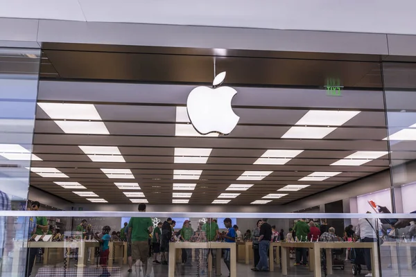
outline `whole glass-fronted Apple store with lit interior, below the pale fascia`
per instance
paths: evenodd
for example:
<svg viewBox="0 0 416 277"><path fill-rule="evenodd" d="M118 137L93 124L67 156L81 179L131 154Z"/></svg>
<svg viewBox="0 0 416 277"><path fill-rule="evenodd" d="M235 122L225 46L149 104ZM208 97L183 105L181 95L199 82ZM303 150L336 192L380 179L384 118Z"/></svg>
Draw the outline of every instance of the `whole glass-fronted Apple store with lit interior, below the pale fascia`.
<svg viewBox="0 0 416 277"><path fill-rule="evenodd" d="M413 62L0 48L0 276L416 276Z"/></svg>

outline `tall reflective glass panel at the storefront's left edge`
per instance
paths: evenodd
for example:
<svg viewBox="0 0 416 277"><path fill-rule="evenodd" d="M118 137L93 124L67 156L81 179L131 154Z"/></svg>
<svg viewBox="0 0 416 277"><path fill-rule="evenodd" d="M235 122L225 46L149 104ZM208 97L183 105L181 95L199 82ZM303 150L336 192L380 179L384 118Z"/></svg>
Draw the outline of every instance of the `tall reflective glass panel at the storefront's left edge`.
<svg viewBox="0 0 416 277"><path fill-rule="evenodd" d="M39 66L39 49L0 48L1 210L26 209ZM0 276L24 276L27 220L0 217Z"/></svg>

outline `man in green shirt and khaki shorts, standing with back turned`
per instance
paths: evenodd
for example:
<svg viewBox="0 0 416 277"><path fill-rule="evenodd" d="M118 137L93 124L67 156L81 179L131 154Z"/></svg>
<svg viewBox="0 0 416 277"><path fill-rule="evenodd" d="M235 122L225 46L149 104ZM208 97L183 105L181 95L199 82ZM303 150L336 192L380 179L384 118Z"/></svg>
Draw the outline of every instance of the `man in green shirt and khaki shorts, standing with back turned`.
<svg viewBox="0 0 416 277"><path fill-rule="evenodd" d="M139 213L146 212L146 204L139 204ZM143 263L143 272L147 274L147 260L149 253L148 238L149 233L153 231L153 222L150 217L132 217L127 225L128 228L128 242L132 243L132 258L133 261L141 260ZM136 265L139 266L139 265Z"/></svg>

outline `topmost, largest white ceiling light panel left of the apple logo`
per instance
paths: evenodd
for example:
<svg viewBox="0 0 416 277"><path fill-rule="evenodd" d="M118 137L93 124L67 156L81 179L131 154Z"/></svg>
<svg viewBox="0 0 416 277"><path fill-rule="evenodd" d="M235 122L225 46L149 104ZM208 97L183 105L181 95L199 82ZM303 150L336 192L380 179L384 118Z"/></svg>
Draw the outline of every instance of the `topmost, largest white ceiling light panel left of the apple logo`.
<svg viewBox="0 0 416 277"><path fill-rule="evenodd" d="M38 102L37 105L52 119L102 120L92 104Z"/></svg>

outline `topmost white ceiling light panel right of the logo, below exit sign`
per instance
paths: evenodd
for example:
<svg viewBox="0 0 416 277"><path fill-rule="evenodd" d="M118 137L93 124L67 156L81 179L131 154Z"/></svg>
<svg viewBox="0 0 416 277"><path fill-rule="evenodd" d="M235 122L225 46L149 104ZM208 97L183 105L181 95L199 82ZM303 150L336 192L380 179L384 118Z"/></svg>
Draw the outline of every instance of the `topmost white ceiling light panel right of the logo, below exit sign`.
<svg viewBox="0 0 416 277"><path fill-rule="evenodd" d="M360 111L308 111L295 125L341 126Z"/></svg>

